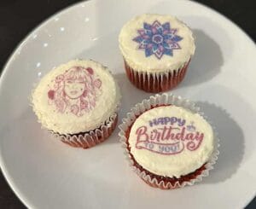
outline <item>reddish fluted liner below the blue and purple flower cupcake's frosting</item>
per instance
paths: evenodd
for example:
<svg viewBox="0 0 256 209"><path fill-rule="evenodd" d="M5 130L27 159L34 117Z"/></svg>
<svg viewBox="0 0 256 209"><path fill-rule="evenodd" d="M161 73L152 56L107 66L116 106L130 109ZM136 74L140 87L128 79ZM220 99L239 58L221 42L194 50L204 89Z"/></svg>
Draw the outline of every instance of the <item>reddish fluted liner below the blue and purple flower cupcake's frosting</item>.
<svg viewBox="0 0 256 209"><path fill-rule="evenodd" d="M157 73L157 71L155 73L147 73L136 71L136 69L130 67L125 61L125 71L131 83L138 89L159 93L161 91L172 90L172 88L176 87L183 80L189 67L189 62L190 60L183 67L177 70L166 71L166 73Z"/></svg>

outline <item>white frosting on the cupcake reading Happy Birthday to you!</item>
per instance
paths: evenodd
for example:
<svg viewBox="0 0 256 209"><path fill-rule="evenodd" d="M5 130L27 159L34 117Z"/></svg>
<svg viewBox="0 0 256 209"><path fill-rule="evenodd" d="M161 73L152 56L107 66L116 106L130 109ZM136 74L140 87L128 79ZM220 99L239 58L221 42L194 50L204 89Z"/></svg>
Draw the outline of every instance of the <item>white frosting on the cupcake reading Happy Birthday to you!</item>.
<svg viewBox="0 0 256 209"><path fill-rule="evenodd" d="M180 122L176 122L172 125L172 128L186 128L185 134L187 133L203 133L201 143L199 140L161 140L153 141L154 147L149 148L149 145L146 146L145 142L141 142L146 139L145 135L141 135L140 138L139 132L137 131L140 127L146 126L148 136L151 131L157 129L161 131L160 128L163 128L165 125L149 125L149 121L153 119L166 118L166 117L176 117L181 119ZM170 119L169 118L169 119ZM185 122L183 121L185 120ZM194 131L187 129L187 125L195 127ZM166 127L170 127L170 123L166 124ZM179 124L179 125L178 125ZM190 126L191 127L191 126ZM141 129L143 130L143 129ZM177 130L172 130L172 133L177 133ZM142 132L141 132L142 133ZM185 135L184 135L185 137ZM176 106L166 106L166 107L154 107L153 109L148 110L147 112L140 115L135 123L131 127L131 133L129 136L129 144L131 148L131 154L134 156L134 159L137 160L139 165L142 165L144 169L164 177L181 177L187 175L190 172L195 171L204 165L207 160L209 160L212 151L213 151L213 131L211 125L207 123L205 119L201 117L198 113L192 113L189 110L184 109L183 107ZM140 141L140 143L138 143ZM175 152L167 148L170 147L170 143L178 143L179 149ZM188 142L195 142L197 148L195 150L186 147ZM159 143L161 145L159 145ZM166 145L166 144L169 145ZM162 152L166 145L167 152ZM160 149L161 146L161 149ZM175 145L177 146L177 145ZM147 149L148 148L148 149ZM183 149L182 149L183 148ZM190 147L191 148L191 147ZM183 150L178 153L179 150ZM159 153L158 153L159 151Z"/></svg>

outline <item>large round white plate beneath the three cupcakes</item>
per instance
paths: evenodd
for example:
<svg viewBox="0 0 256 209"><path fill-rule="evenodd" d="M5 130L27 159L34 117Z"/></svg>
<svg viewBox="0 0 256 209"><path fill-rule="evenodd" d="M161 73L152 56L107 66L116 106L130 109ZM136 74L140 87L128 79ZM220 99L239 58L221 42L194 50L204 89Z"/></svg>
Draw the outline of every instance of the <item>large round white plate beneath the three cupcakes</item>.
<svg viewBox="0 0 256 209"><path fill-rule="evenodd" d="M189 72L173 93L198 102L218 128L218 164L202 183L153 189L124 159L118 129L83 150L50 139L28 99L52 67L91 58L113 69L123 99L120 119L150 94L125 77L118 33L132 16L177 15L196 36ZM256 49L230 20L198 3L165 0L90 1L54 15L10 57L0 85L0 160L4 176L30 208L241 208L256 191ZM120 121L120 120L119 120Z"/></svg>

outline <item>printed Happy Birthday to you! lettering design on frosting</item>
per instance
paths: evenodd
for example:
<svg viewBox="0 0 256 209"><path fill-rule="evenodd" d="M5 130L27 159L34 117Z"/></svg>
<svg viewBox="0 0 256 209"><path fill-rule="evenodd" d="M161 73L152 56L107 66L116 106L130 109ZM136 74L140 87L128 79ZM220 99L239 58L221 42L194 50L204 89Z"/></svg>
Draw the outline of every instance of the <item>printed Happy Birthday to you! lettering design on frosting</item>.
<svg viewBox="0 0 256 209"><path fill-rule="evenodd" d="M136 148L158 154L179 154L185 148L194 151L204 139L204 133L196 130L193 121L187 123L177 117L149 120L148 125L137 128L136 136Z"/></svg>

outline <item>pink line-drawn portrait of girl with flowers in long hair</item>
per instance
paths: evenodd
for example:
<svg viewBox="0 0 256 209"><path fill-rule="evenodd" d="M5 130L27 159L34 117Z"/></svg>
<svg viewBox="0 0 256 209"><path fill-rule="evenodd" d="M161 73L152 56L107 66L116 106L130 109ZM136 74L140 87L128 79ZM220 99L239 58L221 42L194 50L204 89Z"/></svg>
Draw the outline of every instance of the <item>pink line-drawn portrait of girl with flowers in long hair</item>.
<svg viewBox="0 0 256 209"><path fill-rule="evenodd" d="M48 91L49 105L55 105L59 113L78 117L90 112L102 92L102 81L95 77L90 67L71 67L53 81L53 89Z"/></svg>

